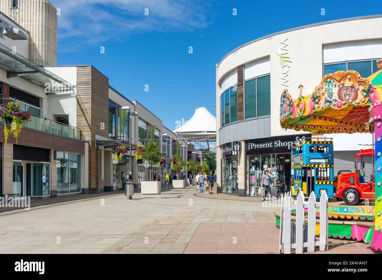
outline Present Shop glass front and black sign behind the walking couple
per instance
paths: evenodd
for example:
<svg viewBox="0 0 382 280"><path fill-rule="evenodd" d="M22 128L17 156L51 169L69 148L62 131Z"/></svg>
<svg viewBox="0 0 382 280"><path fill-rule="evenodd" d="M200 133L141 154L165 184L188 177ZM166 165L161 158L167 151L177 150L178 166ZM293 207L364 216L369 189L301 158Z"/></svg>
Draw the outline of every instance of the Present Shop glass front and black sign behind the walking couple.
<svg viewBox="0 0 382 280"><path fill-rule="evenodd" d="M280 197L291 185L290 149L295 141L311 138L311 134L275 136L245 141L246 196L258 197L262 174L271 169L274 184L272 190Z"/></svg>

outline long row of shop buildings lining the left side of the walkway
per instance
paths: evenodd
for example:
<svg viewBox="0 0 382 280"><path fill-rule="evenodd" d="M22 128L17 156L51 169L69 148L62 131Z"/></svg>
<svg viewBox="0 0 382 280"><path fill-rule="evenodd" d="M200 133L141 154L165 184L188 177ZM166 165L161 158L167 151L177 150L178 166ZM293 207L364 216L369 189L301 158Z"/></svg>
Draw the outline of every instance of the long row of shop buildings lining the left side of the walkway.
<svg viewBox="0 0 382 280"><path fill-rule="evenodd" d="M36 40L38 30L24 29L0 12L1 105L16 102L31 113L17 143L13 135L5 143L5 123L0 120L0 196L53 198L110 192L123 187L122 172L128 181L131 170L136 188L141 181L160 178L164 182L166 174L174 174L170 158L179 153L187 160L188 139L166 128L140 102L126 98L126 92L109 85L108 77L92 65L41 66L33 62L57 61L57 15L35 11L33 5L21 5L19 12L23 8L55 27L56 44L36 48L30 40ZM51 35L52 30L41 33L42 39ZM121 118L122 107L134 114ZM124 126L120 126L121 120ZM152 135L150 128L154 128ZM136 160L134 151L149 140L157 142L164 154L163 166ZM131 152L118 158L114 148L124 144L129 149L130 143ZM185 166L177 176L184 174Z"/></svg>

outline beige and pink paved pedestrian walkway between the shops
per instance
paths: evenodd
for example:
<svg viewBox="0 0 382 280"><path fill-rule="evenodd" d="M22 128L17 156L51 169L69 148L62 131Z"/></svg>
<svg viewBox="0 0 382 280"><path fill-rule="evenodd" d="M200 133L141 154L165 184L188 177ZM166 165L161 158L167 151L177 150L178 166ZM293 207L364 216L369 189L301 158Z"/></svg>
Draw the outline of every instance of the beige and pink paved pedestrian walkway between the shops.
<svg viewBox="0 0 382 280"><path fill-rule="evenodd" d="M195 194L186 187L0 213L0 253L277 253L277 205ZM364 243L328 253L345 252L373 253Z"/></svg>

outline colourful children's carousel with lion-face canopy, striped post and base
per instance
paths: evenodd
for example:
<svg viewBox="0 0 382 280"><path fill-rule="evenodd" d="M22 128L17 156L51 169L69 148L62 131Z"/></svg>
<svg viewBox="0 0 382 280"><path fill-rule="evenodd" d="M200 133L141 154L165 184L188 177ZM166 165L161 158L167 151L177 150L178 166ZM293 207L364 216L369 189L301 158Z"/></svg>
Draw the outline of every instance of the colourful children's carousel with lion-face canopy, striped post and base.
<svg viewBox="0 0 382 280"><path fill-rule="evenodd" d="M372 179L375 192L371 200L364 203L346 205L344 201L330 202L328 235L362 240L371 244L373 249L382 251L381 59L377 60L377 66L379 70L367 78L361 77L354 70L337 71L334 74L325 75L319 85L314 88L313 93L308 96L302 95L303 85L300 85L297 99L293 99L288 90L283 90L280 102L280 125L285 129L317 134L373 134L375 141L374 152L372 152L374 155ZM355 171L355 173L358 172ZM292 211L292 217L293 214ZM319 216L319 214L318 208L316 215ZM279 210L275 211L275 216L276 224L279 226Z"/></svg>

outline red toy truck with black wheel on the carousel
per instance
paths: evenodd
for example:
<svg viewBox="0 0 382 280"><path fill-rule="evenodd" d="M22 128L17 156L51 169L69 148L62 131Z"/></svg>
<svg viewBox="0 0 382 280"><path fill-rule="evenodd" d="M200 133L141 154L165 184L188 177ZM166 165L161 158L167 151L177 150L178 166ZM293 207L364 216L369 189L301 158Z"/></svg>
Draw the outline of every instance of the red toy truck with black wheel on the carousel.
<svg viewBox="0 0 382 280"><path fill-rule="evenodd" d="M372 174L365 174L365 163L372 164L373 150L361 150L356 155L355 171L340 170L338 172L337 199L343 199L346 204L354 205L365 198L374 197L374 184ZM372 171L369 171L372 172Z"/></svg>

